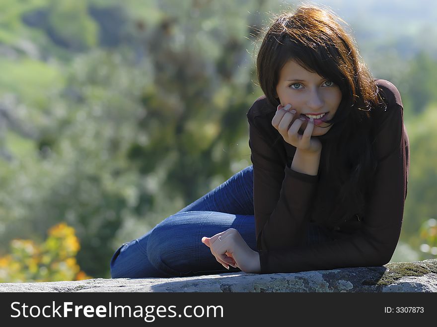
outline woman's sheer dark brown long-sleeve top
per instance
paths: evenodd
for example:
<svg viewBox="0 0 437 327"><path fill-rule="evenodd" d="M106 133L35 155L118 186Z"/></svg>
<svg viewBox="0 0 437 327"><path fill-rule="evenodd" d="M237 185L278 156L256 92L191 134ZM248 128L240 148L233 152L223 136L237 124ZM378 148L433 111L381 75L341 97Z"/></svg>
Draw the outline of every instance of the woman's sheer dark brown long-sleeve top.
<svg viewBox="0 0 437 327"><path fill-rule="evenodd" d="M272 126L277 109L265 96L249 109L261 273L379 266L390 261L399 240L407 196L409 140L397 88L386 80L375 81L385 97L386 109L371 113L372 124L377 124L372 136L378 164L366 216L333 226L337 236L324 243L302 245L298 240L306 234L308 222L323 215L317 208L335 205L334 201L326 202L336 192L330 190L333 181L329 172L323 171L322 162L316 176L292 170L296 148ZM278 136L281 140L275 143Z"/></svg>

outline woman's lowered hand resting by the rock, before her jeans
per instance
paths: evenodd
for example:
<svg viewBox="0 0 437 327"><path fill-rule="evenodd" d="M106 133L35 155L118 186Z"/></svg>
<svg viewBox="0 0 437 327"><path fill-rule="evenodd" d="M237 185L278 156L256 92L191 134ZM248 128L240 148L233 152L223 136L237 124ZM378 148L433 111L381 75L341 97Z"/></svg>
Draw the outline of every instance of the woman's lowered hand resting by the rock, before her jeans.
<svg viewBox="0 0 437 327"><path fill-rule="evenodd" d="M247 273L259 273L261 270L258 252L253 251L234 228L213 237L204 236L202 243L210 248L216 260L227 269L230 264Z"/></svg>

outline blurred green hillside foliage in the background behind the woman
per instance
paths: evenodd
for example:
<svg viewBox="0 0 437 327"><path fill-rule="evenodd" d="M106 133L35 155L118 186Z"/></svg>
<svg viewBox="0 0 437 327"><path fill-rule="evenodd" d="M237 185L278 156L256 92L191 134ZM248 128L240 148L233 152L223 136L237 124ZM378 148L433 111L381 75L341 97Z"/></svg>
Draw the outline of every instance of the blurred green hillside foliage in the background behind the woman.
<svg viewBox="0 0 437 327"><path fill-rule="evenodd" d="M250 165L245 114L262 94L254 42L268 11L281 8L276 0L1 1L2 262L66 223L84 274L109 277L123 242ZM404 101L411 170L401 240L420 253L423 223L437 218L436 58L417 49L389 69L381 54L364 55Z"/></svg>

